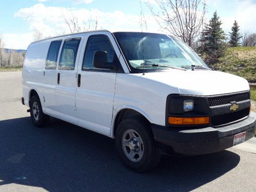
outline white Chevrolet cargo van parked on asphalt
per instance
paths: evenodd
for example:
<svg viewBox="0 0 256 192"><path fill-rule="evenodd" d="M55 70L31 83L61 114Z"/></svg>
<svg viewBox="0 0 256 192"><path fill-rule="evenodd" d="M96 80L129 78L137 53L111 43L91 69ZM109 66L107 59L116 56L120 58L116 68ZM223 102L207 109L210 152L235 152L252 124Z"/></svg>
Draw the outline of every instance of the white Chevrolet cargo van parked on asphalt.
<svg viewBox="0 0 256 192"><path fill-rule="evenodd" d="M213 153L254 135L247 80L209 69L179 39L106 30L32 42L22 102L35 126L55 117L115 138L137 172L161 154Z"/></svg>

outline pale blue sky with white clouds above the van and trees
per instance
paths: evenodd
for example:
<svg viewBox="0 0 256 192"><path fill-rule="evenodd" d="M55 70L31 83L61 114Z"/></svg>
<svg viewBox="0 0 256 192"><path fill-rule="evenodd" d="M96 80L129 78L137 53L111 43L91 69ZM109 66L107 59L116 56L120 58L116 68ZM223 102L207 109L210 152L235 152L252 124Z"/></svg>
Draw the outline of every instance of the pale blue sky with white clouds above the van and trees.
<svg viewBox="0 0 256 192"><path fill-rule="evenodd" d="M146 2L156 7L154 0L141 0L147 30L163 32L157 25ZM217 11L225 33L236 19L241 33L256 32L256 0L207 0L206 19ZM79 22L97 20L98 29L111 31L141 31L139 0L0 0L0 35L4 47L27 49L34 31L44 37L70 33L65 18L72 15Z"/></svg>

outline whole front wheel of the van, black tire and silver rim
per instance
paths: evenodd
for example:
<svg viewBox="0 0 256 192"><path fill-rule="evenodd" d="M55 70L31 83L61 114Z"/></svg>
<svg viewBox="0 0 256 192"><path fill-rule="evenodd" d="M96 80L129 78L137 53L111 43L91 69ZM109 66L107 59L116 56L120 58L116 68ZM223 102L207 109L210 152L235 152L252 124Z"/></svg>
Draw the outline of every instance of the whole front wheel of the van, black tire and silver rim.
<svg viewBox="0 0 256 192"><path fill-rule="evenodd" d="M147 172L161 160L150 123L139 116L124 119L118 124L115 143L123 164L135 172Z"/></svg>

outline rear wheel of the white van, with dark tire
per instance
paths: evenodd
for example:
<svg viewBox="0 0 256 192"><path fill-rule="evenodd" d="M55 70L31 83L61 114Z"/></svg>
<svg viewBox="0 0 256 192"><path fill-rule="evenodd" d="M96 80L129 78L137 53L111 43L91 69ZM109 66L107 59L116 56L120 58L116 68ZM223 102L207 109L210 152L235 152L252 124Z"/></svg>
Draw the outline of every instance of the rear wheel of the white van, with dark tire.
<svg viewBox="0 0 256 192"><path fill-rule="evenodd" d="M46 126L49 123L50 116L42 112L41 102L37 95L30 99L30 116L33 124L37 127Z"/></svg>

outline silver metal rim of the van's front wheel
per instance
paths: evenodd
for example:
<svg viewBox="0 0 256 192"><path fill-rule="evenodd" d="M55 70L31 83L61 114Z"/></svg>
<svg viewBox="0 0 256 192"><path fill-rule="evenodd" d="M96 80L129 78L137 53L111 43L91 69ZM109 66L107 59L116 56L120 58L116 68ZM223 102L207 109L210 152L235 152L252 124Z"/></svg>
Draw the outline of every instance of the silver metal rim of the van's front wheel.
<svg viewBox="0 0 256 192"><path fill-rule="evenodd" d="M144 144L141 136L135 130L126 130L122 137L122 148L125 156L133 161L138 162L144 154Z"/></svg>

